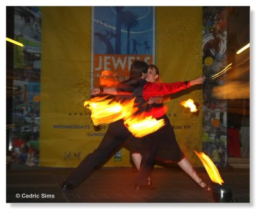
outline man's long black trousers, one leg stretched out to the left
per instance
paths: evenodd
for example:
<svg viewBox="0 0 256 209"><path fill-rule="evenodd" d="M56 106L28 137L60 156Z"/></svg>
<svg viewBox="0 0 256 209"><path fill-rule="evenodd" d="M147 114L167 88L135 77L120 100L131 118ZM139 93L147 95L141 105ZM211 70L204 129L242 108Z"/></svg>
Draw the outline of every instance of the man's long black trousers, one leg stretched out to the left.
<svg viewBox="0 0 256 209"><path fill-rule="evenodd" d="M77 166L67 178L67 182L77 187L92 173L93 169L107 162L108 159L120 149L122 143L124 143L129 136L131 136L131 133L124 126L123 120L109 124L108 131L100 142L99 147L83 159L79 166ZM147 157L148 155L144 155L141 161L141 168L136 180L136 184L138 185L145 184L150 175L152 164L154 164L152 159L147 161Z"/></svg>

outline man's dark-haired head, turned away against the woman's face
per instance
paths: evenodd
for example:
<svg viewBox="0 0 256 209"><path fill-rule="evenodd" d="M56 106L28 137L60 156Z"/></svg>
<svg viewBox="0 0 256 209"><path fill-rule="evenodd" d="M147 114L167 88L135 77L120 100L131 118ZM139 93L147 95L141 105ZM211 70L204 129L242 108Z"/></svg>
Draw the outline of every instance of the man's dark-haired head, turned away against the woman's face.
<svg viewBox="0 0 256 209"><path fill-rule="evenodd" d="M147 76L148 64L144 61L133 61L130 69L130 78L140 78ZM141 77L143 78L143 77Z"/></svg>

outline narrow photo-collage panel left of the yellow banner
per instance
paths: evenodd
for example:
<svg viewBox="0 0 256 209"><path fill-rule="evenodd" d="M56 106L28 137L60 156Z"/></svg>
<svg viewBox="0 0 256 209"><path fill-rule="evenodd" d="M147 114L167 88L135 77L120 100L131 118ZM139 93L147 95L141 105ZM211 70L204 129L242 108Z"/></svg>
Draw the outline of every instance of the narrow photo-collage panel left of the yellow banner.
<svg viewBox="0 0 256 209"><path fill-rule="evenodd" d="M10 145L12 165L37 166L40 140L41 11L37 6L15 6L13 97Z"/></svg>

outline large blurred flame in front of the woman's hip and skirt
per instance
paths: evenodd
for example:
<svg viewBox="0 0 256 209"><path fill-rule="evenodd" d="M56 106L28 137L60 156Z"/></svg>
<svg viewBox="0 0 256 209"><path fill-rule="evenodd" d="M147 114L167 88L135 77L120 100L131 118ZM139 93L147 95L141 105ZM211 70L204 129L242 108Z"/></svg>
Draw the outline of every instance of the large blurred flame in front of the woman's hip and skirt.
<svg viewBox="0 0 256 209"><path fill-rule="evenodd" d="M125 119L124 124L138 138L154 133L165 125L164 119L156 120L152 116L144 117L144 115L129 117Z"/></svg>

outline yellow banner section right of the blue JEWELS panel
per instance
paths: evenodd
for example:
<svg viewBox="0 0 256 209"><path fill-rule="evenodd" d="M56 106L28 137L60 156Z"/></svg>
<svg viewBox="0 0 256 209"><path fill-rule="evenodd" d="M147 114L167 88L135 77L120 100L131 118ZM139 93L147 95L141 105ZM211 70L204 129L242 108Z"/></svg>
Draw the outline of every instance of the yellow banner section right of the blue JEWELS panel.
<svg viewBox="0 0 256 209"><path fill-rule="evenodd" d="M192 80L202 75L202 7L157 7L156 29L156 65L162 81ZM194 153L202 149L202 90L197 89L172 94L166 114L181 150L195 166L201 166ZM198 113L180 105L198 97Z"/></svg>

